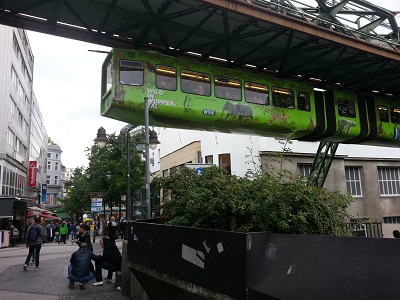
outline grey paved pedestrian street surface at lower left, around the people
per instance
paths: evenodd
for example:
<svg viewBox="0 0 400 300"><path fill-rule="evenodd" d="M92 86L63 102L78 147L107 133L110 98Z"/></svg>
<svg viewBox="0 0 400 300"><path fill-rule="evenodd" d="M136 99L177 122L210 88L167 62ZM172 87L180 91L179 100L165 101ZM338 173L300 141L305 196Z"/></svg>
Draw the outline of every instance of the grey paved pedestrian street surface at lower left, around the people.
<svg viewBox="0 0 400 300"><path fill-rule="evenodd" d="M117 290L115 283L104 282L103 286L91 286L89 282L85 290L80 290L78 283L75 289L68 288L68 265L71 254L78 249L76 244L45 243L40 251L40 270L30 265L25 272L22 270L28 249L24 244L15 248L0 248L0 300L127 300ZM121 240L117 241L121 249ZM93 244L94 253L102 253L102 248L96 240ZM103 270L103 276L107 271ZM115 274L113 281L115 280Z"/></svg>

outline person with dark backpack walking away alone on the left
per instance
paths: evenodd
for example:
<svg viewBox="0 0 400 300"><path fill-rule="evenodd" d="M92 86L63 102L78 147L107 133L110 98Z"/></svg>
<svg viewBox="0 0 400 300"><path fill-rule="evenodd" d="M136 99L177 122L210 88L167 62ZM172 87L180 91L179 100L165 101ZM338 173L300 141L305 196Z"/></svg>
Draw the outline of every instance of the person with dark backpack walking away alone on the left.
<svg viewBox="0 0 400 300"><path fill-rule="evenodd" d="M35 260L35 270L39 270L39 255L40 249L42 248L43 241L46 240L46 230L40 225L40 218L35 218L35 223L28 227L26 231L26 248L29 248L28 256L26 257L25 264L24 264L24 271L28 269L29 261L33 252L36 253L36 260Z"/></svg>

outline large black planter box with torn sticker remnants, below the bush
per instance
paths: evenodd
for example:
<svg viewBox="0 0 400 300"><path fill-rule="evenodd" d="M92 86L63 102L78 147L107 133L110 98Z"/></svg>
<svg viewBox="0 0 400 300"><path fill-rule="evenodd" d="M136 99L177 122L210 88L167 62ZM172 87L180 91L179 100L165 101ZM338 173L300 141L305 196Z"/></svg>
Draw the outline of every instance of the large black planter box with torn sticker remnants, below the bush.
<svg viewBox="0 0 400 300"><path fill-rule="evenodd" d="M400 295L395 239L234 233L144 222L129 229L131 270L151 299Z"/></svg>

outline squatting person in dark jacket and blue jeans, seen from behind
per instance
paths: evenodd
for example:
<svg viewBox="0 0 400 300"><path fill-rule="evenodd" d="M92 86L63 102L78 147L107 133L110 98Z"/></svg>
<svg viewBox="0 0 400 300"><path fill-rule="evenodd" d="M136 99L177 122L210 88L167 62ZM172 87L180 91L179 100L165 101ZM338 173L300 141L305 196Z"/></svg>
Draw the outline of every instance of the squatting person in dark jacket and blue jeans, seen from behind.
<svg viewBox="0 0 400 300"><path fill-rule="evenodd" d="M91 272L93 255L92 251L87 249L86 243L80 243L79 249L72 253L70 265L68 266L69 288L73 289L75 281L79 282L81 290L85 289L85 283L88 283L94 277Z"/></svg>

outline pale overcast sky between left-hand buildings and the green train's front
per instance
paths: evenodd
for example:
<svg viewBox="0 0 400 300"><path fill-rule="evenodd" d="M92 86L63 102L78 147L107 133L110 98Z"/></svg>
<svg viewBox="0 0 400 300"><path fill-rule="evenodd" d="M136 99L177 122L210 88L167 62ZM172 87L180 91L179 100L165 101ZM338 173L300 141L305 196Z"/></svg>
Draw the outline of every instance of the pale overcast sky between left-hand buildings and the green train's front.
<svg viewBox="0 0 400 300"><path fill-rule="evenodd" d="M85 149L97 129L119 131L125 123L100 116L101 65L109 48L28 32L35 58L33 90L49 137L63 150L66 167L86 166Z"/></svg>

